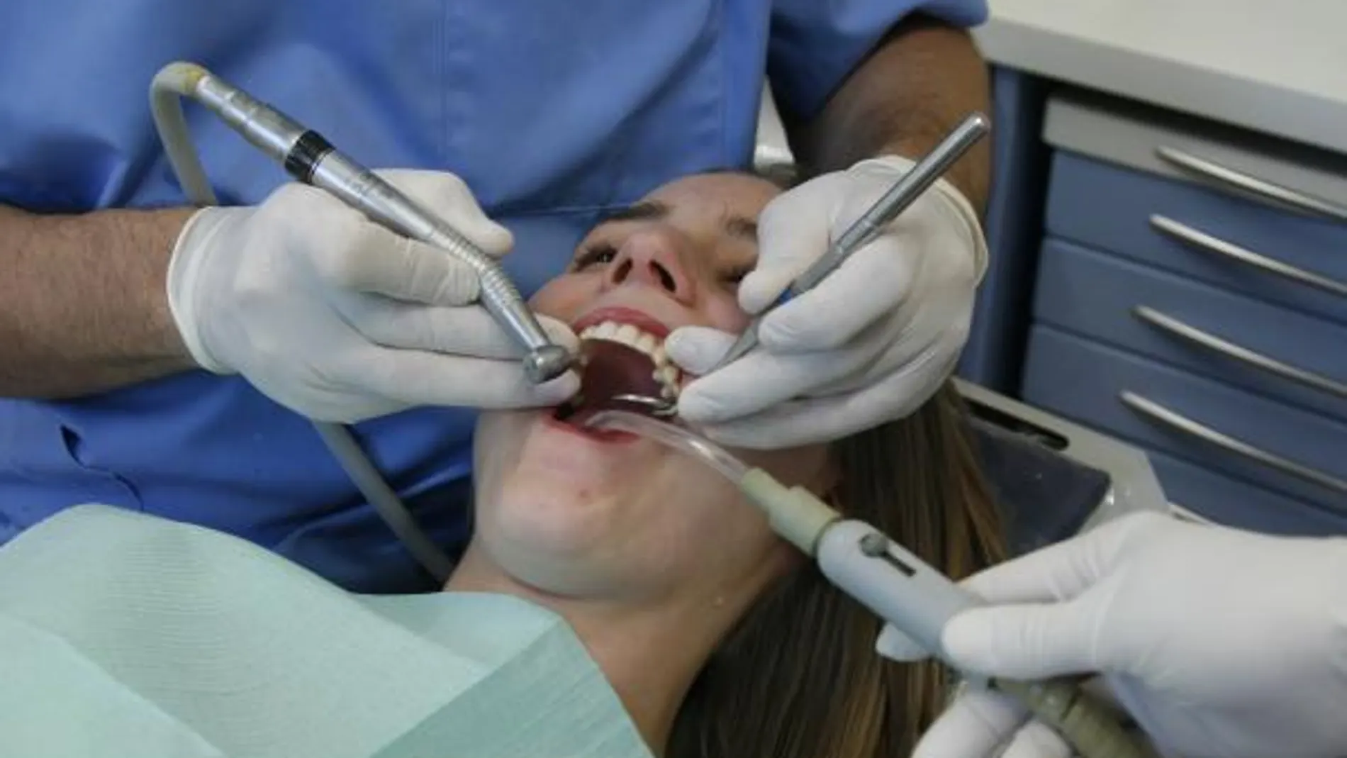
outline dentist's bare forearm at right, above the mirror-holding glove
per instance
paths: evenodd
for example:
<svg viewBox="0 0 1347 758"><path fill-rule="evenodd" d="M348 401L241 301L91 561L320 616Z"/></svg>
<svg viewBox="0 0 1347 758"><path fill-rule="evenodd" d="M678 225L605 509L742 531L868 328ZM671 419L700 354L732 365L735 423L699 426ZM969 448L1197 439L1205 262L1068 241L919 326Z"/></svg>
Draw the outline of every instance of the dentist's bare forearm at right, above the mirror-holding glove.
<svg viewBox="0 0 1347 758"><path fill-rule="evenodd" d="M804 124L783 117L792 151L814 174L880 153L917 159L973 110L990 110L987 67L973 38L913 15L890 30L818 116ZM990 172L990 140L983 139L946 179L981 214Z"/></svg>

